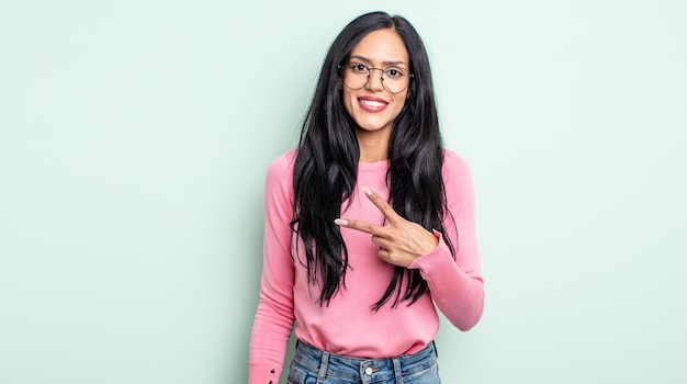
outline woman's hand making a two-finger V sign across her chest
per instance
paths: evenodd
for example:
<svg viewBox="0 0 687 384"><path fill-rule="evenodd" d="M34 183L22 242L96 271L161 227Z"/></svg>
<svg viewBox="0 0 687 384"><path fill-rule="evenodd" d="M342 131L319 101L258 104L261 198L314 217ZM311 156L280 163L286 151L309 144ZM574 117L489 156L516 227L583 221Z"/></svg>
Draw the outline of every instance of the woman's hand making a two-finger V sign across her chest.
<svg viewBox="0 0 687 384"><path fill-rule="evenodd" d="M384 199L363 187L362 191L386 217L386 225L337 218L334 222L342 227L372 235L372 242L380 247L380 259L394 266L408 267L413 260L431 252L439 240L435 234L421 225L408 222L394 211Z"/></svg>

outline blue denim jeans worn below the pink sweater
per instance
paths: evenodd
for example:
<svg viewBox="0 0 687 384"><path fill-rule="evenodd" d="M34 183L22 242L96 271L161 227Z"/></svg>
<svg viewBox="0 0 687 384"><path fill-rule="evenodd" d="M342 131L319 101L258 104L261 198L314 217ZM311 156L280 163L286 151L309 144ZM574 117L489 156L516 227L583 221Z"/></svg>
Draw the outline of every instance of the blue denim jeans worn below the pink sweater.
<svg viewBox="0 0 687 384"><path fill-rule="evenodd" d="M289 384L438 384L433 343L414 354L388 359L359 359L329 353L297 341Z"/></svg>

